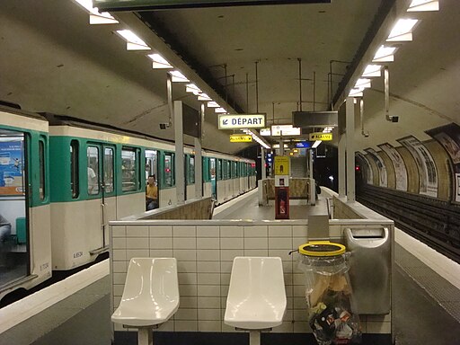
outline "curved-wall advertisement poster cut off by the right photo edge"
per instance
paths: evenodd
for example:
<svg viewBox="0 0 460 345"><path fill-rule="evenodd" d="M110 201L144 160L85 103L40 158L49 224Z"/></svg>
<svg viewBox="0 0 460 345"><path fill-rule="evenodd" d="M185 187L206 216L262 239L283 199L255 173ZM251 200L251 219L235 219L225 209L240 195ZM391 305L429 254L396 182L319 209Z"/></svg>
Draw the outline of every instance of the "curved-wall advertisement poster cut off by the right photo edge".
<svg viewBox="0 0 460 345"><path fill-rule="evenodd" d="M447 126L427 130L426 133L433 137L444 147L447 155L452 160L456 174L456 201L460 202L460 126L451 123Z"/></svg>

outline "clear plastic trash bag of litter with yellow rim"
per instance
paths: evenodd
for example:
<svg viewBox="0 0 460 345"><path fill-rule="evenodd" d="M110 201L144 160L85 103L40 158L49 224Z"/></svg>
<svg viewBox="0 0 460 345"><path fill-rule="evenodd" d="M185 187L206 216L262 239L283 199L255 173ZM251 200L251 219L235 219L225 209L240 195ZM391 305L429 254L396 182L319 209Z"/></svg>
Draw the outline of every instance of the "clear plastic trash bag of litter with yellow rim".
<svg viewBox="0 0 460 345"><path fill-rule="evenodd" d="M308 322L318 344L351 344L361 340L361 327L349 282L345 246L329 241L299 246L305 272Z"/></svg>

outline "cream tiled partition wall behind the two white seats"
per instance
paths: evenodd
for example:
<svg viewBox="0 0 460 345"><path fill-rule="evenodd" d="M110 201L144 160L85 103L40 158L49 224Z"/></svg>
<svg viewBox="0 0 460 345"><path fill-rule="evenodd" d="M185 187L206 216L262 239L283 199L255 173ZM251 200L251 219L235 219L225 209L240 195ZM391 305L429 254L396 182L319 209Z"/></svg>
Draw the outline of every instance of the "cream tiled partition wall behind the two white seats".
<svg viewBox="0 0 460 345"><path fill-rule="evenodd" d="M388 226L393 221L331 220L329 237L342 242L349 226ZM307 242L306 220L292 221L115 221L111 222L113 310L119 305L132 257L174 257L180 308L160 331L234 332L224 320L235 256L279 256L283 261L288 312L272 332L311 332L306 318L304 275L289 252ZM391 333L390 315L361 316L363 332ZM115 325L115 331L126 331Z"/></svg>

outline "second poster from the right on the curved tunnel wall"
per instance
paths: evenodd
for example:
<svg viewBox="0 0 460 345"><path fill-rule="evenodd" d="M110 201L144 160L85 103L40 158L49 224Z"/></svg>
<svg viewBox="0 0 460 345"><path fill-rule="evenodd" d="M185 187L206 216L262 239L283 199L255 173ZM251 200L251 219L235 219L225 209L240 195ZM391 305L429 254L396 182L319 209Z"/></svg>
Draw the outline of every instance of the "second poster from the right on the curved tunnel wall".
<svg viewBox="0 0 460 345"><path fill-rule="evenodd" d="M416 137L404 137L398 141L409 150L419 168L420 194L438 197L438 172L429 150Z"/></svg>

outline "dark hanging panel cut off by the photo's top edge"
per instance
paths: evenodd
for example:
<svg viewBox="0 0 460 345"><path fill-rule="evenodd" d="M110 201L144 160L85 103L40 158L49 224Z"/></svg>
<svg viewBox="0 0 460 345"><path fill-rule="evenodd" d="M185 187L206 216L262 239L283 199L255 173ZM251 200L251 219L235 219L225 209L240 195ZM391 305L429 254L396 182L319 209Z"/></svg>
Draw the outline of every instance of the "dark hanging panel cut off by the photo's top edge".
<svg viewBox="0 0 460 345"><path fill-rule="evenodd" d="M147 11L165 8L247 6L253 4L330 4L331 0L93 0L105 11Z"/></svg>

